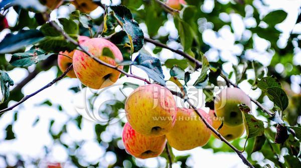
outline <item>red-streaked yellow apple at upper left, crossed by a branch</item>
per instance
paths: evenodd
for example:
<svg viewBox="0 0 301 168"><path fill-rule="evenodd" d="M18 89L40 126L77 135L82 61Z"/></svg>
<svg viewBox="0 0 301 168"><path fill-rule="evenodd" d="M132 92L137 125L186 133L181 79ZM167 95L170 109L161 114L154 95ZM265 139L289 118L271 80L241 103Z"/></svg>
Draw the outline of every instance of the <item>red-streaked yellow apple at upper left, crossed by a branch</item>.
<svg viewBox="0 0 301 168"><path fill-rule="evenodd" d="M93 38L82 43L92 55L99 60L116 66L118 62L123 61L119 49L110 41L102 38ZM103 55L104 49L109 49L114 58ZM118 69L122 70L123 66ZM85 53L76 50L73 55L73 69L77 78L85 86L92 89L101 89L114 84L120 76L120 72L97 63Z"/></svg>

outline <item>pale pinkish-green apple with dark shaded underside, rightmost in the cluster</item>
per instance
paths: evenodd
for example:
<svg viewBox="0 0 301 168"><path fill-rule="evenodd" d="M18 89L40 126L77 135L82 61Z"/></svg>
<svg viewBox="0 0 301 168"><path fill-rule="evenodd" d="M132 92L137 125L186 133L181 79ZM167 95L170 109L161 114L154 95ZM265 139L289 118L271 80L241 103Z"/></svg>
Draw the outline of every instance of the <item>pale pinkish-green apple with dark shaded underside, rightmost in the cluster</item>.
<svg viewBox="0 0 301 168"><path fill-rule="evenodd" d="M239 88L223 89L214 100L214 109L218 117L224 117L224 124L237 126L243 123L242 113L238 107L245 104L252 110L251 100Z"/></svg>

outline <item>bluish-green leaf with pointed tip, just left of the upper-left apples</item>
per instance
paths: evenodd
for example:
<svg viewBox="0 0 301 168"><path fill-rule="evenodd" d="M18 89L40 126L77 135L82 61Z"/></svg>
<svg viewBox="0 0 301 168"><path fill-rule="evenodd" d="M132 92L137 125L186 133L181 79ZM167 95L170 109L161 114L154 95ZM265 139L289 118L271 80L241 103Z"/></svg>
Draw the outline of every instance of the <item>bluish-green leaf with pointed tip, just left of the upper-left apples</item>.
<svg viewBox="0 0 301 168"><path fill-rule="evenodd" d="M53 53L47 54L41 49L32 49L24 53L13 54L10 63L15 67L28 67L42 60L46 60L51 55L53 55Z"/></svg>

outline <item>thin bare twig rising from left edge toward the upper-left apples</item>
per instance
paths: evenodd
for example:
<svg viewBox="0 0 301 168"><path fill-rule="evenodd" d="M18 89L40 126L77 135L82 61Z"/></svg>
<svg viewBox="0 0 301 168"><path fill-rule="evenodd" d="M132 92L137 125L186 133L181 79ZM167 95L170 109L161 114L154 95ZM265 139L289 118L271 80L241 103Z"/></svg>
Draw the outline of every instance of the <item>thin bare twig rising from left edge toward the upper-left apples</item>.
<svg viewBox="0 0 301 168"><path fill-rule="evenodd" d="M25 102L27 99L33 97L34 95L40 93L42 90L46 89L46 88L49 88L50 86L52 86L53 84L55 84L57 81L63 79L64 76L66 76L66 74L73 68L73 65L70 65L66 71L59 77L55 78L53 81L51 81L50 83L48 83L47 85L45 85L44 87L42 87L41 89L35 91L34 93L30 94L30 95L27 95L25 97L23 97L18 103L12 105L11 107L8 107L6 109L3 109L0 111L0 114L6 112L6 111L10 111L12 109L14 109L15 107L17 107L18 105L22 104L23 102Z"/></svg>

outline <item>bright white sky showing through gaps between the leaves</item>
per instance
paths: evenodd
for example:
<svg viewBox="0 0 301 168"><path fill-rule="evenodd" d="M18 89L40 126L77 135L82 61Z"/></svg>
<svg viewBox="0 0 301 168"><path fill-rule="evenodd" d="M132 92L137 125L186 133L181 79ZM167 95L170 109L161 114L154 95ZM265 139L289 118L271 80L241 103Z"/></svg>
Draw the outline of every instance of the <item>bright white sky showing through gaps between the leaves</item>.
<svg viewBox="0 0 301 168"><path fill-rule="evenodd" d="M120 4L120 1L112 1L113 5ZM227 0L221 0L219 2L227 3ZM273 11L276 9L283 9L287 12L288 16L285 21L281 24L278 24L277 29L281 30L283 33L278 40L279 46L285 46L285 40L288 38L288 34L293 30L294 32L301 33L301 25L298 24L293 27L296 17L298 15L299 7L301 6L301 1L298 0L265 0L268 7L263 7L260 5L258 0L255 0L254 5L260 9L262 16L266 15L269 11ZM106 5L110 5L107 1L103 1ZM54 10L51 14L51 19L55 20L56 18L66 17L68 16L70 10L74 9L74 7L60 7L58 10ZM205 0L204 6L202 10L204 12L210 12L214 9L213 0ZM101 8L96 9L91 13L92 17L97 17L101 15L103 10ZM210 61L214 61L218 59L217 51L221 51L221 59L224 61L228 61L224 65L224 69L226 72L230 72L232 70L232 64L237 64L237 58L235 55L242 52L242 47L240 45L234 44L235 40L240 37L242 34L248 36L248 31L245 30L245 25L252 26L252 19L243 20L240 16L236 14L222 14L222 17L225 20L230 20L232 22L232 26L234 29L234 33L230 31L230 27L224 26L217 33L213 32L211 29L204 30L202 36L204 42L211 46L211 49L206 52L207 58ZM10 26L14 26L17 21L17 14L10 10L7 15L7 19ZM140 24L144 33L147 33L146 26L144 24ZM4 30L0 33L0 39L3 39L4 36L10 33L9 30ZM178 36L177 30L173 23L172 17L169 16L169 21L164 24L163 27L160 28L159 34L164 35L169 33L170 36ZM219 36L217 36L217 34ZM269 47L269 42L264 39L255 36L254 48L256 50L247 51L247 58L250 60L259 60L264 65L268 65L273 53L266 52L266 48ZM177 48L179 46L176 42L170 42L168 45L172 48ZM148 51L152 51L154 49L153 44L147 43L145 49ZM300 51L295 51L294 64L301 64L301 54ZM136 56L136 55L134 55ZM171 51L167 49L163 49L160 55L154 55L161 59L162 62L169 58L181 58L179 55L175 55ZM262 57L264 56L264 57ZM9 61L11 55L7 54L6 58ZM279 65L280 66L280 65ZM33 71L35 65L29 67L29 71ZM279 71L281 70L281 66L278 67ZM58 69L56 67L51 68L46 72L41 72L34 78L31 82L29 82L23 89L23 93L25 95L34 92L35 90L45 86L52 79L54 79L57 75ZM165 79L169 79L169 69L163 67L164 74L166 75ZM136 75L141 77L147 77L146 74L138 68L133 67L133 72ZM15 68L13 71L9 72L10 77L15 81L15 83L21 82L27 75L28 71L22 68ZM195 72L192 74L192 79L197 79L199 76L199 72ZM252 72L247 72L248 78L254 78L254 74ZM300 76L295 76L294 82L292 84L292 89L295 92L300 92L301 89L298 83L301 83ZM106 90L102 90L101 96L98 96L95 99L94 106L102 108L102 103L106 100L123 100L125 97L119 91L120 86L122 86L123 82L132 82L137 83L139 85L143 85L141 81L133 80L131 78L122 77L117 83ZM194 80L190 81L190 83L194 83ZM36 96L30 98L28 101L18 106L12 111L6 112L0 118L0 155L7 155L9 164L14 164L16 159L16 154L19 153L22 155L24 159L31 158L40 158L40 167L45 167L45 164L48 161L51 162L66 162L66 167L72 167L68 164L68 153L65 148L60 145L58 142L53 141L51 135L48 133L49 123L51 120L55 120L52 131L58 132L62 128L63 124L68 122L67 124L67 133L62 135L62 141L66 144L73 145L73 142L81 142L82 145L80 149L77 151L77 154L82 156L80 162L82 164L88 165L89 163L95 163L95 161L101 160L103 163L103 167L106 165L113 163L116 160L116 155L111 152L105 153L105 146L107 142L112 140L112 137L118 137L121 135L122 129L112 122L106 131L101 133L101 138L103 139L103 144L99 144L95 141L95 132L94 132L94 124L95 120L100 120L100 118L90 118L87 116L83 108L87 104L87 98L91 96L92 93L97 92L95 90L90 90L84 88L81 92L74 94L73 91L69 90L71 87L80 86L80 82L77 79L64 78L63 80L57 82L52 87L43 90ZM261 91L251 90L251 86L247 82L242 82L239 85L243 91L245 91L248 95L253 98L258 98L261 94ZM129 95L131 89L125 89L125 95ZM202 101L202 93L199 94L199 100ZM49 100L52 102L52 106L48 105L40 105L41 103ZM15 102L11 101L9 105L14 104ZM177 99L177 103L180 104L181 101ZM204 109L204 105L202 103L201 106ZM58 106L61 105L63 111L58 110ZM272 103L265 98L264 105L266 107L272 107ZM255 109L255 105L253 109ZM208 111L208 109L206 109ZM13 130L16 135L16 139L13 140L4 140L6 137L5 128L8 124L13 122L14 114L18 111L18 120L15 122L13 126ZM91 111L90 111L91 112ZM92 111L96 112L96 111ZM82 129L78 129L76 123L70 118L76 117L78 114L83 114L84 118L82 121ZM255 113L256 114L256 113ZM126 120L121 111L122 120ZM34 122L40 118L39 121L35 124ZM260 118L262 119L262 118ZM216 145L220 145L220 141L215 141ZM50 153L45 155L44 145L49 146ZM122 142L118 142L118 145L122 148ZM243 143L241 144L243 145ZM183 155L189 153L192 157L189 158L188 164L194 167L245 167L240 158L234 153L213 153L211 149L203 149L201 147L197 147L188 151L177 151L173 150L176 155ZM283 151L285 152L285 151ZM252 155L252 159L262 160L262 155L254 154ZM166 161L164 158L149 158L149 159L137 159L137 165L147 166L147 167L165 167ZM124 165L128 163L125 162ZM273 163L271 163L273 164ZM0 167L5 166L3 158L0 157ZM179 163L175 163L174 167L180 167ZM27 167L33 167L28 164Z"/></svg>

